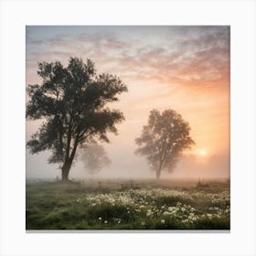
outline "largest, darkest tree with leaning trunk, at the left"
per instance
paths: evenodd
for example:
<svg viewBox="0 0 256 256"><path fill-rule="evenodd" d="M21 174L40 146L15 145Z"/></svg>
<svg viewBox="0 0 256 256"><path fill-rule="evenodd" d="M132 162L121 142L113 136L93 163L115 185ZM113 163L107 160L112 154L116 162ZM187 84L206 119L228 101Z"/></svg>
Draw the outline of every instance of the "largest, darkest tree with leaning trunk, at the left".
<svg viewBox="0 0 256 256"><path fill-rule="evenodd" d="M59 61L39 63L37 74L42 83L27 86L27 120L42 124L27 147L32 154L50 150L48 162L59 164L66 181L79 145L92 138L109 142L107 133L117 132L123 113L107 103L118 101L127 88L116 76L96 75L90 59L70 58L67 67Z"/></svg>

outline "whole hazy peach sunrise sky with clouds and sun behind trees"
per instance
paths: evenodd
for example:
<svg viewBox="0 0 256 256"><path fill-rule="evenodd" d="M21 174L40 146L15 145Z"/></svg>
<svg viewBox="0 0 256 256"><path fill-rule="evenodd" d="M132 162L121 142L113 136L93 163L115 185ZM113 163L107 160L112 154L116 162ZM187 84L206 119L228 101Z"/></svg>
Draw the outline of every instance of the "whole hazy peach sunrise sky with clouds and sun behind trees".
<svg viewBox="0 0 256 256"><path fill-rule="evenodd" d="M196 144L184 153L165 178L229 177L229 51L226 26L28 26L26 33L27 84L40 84L37 63L70 57L91 59L97 73L119 76L128 88L111 103L125 117L118 135L103 144L112 164L99 177L154 177L145 157L134 155L149 112L173 109L190 124ZM28 99L27 99L28 100ZM40 121L27 122L27 140ZM60 176L48 165L50 152L30 155L27 177ZM70 177L87 178L78 156Z"/></svg>

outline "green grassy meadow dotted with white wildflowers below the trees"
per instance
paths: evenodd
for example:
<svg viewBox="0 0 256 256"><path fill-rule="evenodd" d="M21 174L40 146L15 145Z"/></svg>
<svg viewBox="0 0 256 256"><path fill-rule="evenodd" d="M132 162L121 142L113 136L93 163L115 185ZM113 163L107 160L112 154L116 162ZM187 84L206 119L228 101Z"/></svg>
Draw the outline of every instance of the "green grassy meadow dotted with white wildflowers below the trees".
<svg viewBox="0 0 256 256"><path fill-rule="evenodd" d="M229 229L229 182L27 182L27 229Z"/></svg>

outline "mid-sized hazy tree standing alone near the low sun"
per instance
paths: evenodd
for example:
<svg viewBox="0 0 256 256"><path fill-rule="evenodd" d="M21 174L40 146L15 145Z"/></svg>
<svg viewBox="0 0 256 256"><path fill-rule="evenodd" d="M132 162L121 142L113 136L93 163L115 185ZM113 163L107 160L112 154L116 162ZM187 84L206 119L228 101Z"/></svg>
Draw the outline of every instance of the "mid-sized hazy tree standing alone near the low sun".
<svg viewBox="0 0 256 256"><path fill-rule="evenodd" d="M163 169L172 172L181 153L195 144L189 133L189 123L177 112L168 109L161 114L153 110L141 136L135 139L139 145L136 153L146 155L148 164L159 178Z"/></svg>

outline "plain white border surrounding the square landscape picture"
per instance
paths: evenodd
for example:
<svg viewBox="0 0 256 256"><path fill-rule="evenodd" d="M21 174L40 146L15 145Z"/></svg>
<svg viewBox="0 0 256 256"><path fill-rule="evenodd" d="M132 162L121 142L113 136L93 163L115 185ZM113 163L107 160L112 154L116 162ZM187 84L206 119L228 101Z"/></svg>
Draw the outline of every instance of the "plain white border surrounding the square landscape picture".
<svg viewBox="0 0 256 256"><path fill-rule="evenodd" d="M231 26L231 232L26 233L25 26ZM1 255L256 255L255 2L2 1Z"/></svg>

